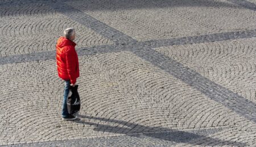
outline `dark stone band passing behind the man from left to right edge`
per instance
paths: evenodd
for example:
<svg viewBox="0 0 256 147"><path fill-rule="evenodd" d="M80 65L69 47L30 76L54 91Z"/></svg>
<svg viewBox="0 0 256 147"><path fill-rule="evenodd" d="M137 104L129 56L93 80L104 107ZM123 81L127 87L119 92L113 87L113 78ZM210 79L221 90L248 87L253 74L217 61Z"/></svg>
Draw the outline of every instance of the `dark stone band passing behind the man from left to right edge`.
<svg viewBox="0 0 256 147"><path fill-rule="evenodd" d="M201 36L187 36L179 38L170 38L164 40L151 40L143 42L127 42L127 44L122 45L99 45L93 47L81 47L77 48L77 53L79 56L90 55L90 54L101 54L101 53L112 53L123 50L137 50L143 47L163 47L172 45L185 45L185 44L199 44L204 42L216 42L216 41L226 41L226 40L237 40L242 38L256 37L256 29L249 31L236 31L227 33L214 33L214 34L204 34ZM32 62L35 60L49 60L55 59L55 51L43 51L31 54L19 54L10 55L7 57L0 58L1 64L12 64L12 63L22 63L22 62Z"/></svg>

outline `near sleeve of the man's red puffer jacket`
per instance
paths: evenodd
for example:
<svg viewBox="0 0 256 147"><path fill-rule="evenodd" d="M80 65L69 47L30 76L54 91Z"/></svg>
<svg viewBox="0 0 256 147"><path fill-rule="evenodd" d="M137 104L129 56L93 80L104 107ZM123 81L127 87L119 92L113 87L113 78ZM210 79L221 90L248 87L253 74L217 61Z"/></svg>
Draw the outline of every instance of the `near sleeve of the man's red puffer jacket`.
<svg viewBox="0 0 256 147"><path fill-rule="evenodd" d="M76 84L76 52L75 49L69 49L66 52L66 63L67 63L67 70L68 70L68 76L71 80L71 84Z"/></svg>

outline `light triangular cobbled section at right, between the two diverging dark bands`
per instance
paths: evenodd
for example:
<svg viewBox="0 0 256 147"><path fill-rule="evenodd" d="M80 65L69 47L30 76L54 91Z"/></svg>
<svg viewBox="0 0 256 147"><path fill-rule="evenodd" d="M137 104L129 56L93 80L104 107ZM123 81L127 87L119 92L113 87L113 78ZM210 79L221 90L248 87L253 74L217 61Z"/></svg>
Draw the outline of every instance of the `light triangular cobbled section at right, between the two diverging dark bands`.
<svg viewBox="0 0 256 147"><path fill-rule="evenodd" d="M254 83L251 80L255 78L254 42L255 38L250 38L160 47L156 50L255 103Z"/></svg>

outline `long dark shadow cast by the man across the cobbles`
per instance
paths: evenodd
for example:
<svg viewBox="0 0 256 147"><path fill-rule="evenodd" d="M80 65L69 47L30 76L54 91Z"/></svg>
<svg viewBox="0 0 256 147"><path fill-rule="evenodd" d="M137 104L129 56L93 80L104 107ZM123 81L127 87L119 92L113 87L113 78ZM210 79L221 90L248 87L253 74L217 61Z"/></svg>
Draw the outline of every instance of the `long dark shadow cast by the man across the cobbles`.
<svg viewBox="0 0 256 147"><path fill-rule="evenodd" d="M76 123L95 126L96 128L94 128L94 131L99 131L99 132L112 132L112 133L119 133L127 136L134 136L134 137L139 137L140 135L143 135L148 137L154 137L160 140L167 140L175 143L186 143L186 144L192 144L192 145L207 146L209 144L211 145L214 144L216 146L222 146L222 145L246 146L246 144L242 142L214 139L211 137L199 135L197 133L173 130L173 129L163 128L163 127L148 127L148 126L142 126L140 124L125 122L121 120L98 118L98 117L86 116L86 115L80 115L80 118L100 120L100 122L115 124L114 126L110 126L106 124L86 122L82 119L75 120ZM203 142L201 141L200 143L197 144L197 141L195 140L200 138L205 141Z"/></svg>

